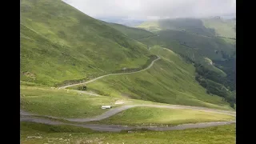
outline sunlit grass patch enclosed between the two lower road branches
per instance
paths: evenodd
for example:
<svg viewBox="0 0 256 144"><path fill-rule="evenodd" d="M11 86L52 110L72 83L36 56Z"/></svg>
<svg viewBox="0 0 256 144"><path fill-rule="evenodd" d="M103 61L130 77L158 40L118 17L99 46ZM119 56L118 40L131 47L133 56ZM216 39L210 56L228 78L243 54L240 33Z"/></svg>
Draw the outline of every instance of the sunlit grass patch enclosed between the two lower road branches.
<svg viewBox="0 0 256 144"><path fill-rule="evenodd" d="M197 122L221 122L234 120L226 114L209 113L200 110L174 110L153 107L134 107L114 116L102 119L100 123L138 126L172 126Z"/></svg>

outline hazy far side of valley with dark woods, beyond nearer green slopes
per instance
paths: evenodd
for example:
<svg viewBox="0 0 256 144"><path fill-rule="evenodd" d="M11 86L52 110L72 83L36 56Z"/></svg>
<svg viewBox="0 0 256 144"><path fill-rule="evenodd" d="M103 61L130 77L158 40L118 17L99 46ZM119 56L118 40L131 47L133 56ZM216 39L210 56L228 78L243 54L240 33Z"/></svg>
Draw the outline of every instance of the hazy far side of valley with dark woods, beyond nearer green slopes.
<svg viewBox="0 0 256 144"><path fill-rule="evenodd" d="M174 50L186 62L194 63L196 80L208 94L217 94L234 107L235 20L222 18L177 18L144 22L140 28L153 29L158 37L139 41Z"/></svg>

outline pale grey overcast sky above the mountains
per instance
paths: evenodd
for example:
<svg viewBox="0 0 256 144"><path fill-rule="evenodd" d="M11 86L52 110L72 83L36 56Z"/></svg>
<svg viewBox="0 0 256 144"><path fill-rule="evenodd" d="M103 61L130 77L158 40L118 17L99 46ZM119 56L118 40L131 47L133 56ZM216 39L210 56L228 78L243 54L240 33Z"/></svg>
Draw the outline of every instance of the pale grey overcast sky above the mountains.
<svg viewBox="0 0 256 144"><path fill-rule="evenodd" d="M63 0L94 18L191 18L235 14L235 0Z"/></svg>

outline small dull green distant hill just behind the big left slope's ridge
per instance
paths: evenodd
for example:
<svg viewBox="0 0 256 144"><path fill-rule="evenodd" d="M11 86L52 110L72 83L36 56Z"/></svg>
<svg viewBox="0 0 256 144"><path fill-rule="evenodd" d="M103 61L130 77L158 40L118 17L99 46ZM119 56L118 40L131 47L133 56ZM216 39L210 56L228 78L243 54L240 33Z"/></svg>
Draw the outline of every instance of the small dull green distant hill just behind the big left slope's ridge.
<svg viewBox="0 0 256 144"><path fill-rule="evenodd" d="M121 31L122 34L126 34L129 38L140 39L140 38L148 38L150 36L154 36L156 34L151 33L150 31L138 29L129 26L123 26L117 23L108 23L114 29Z"/></svg>

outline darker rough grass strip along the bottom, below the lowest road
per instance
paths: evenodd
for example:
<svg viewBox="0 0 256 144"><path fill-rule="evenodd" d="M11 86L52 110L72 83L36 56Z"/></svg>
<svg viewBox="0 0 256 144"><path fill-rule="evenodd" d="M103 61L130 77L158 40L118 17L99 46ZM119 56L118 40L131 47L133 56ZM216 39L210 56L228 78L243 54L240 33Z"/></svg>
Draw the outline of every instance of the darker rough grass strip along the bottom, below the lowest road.
<svg viewBox="0 0 256 144"><path fill-rule="evenodd" d="M235 125L214 126L193 130L148 131L132 133L96 132L74 126L49 126L31 122L21 122L21 143L176 143L176 144L232 144L235 143ZM31 138L31 137L38 138Z"/></svg>

